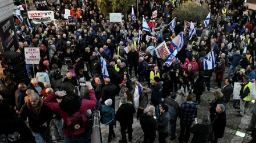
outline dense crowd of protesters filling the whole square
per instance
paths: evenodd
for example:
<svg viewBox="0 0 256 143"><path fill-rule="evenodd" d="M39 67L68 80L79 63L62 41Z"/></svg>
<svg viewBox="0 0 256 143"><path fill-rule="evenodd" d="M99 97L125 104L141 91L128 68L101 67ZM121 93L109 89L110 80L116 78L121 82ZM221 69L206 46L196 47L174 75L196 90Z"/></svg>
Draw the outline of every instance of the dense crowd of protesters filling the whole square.
<svg viewBox="0 0 256 143"><path fill-rule="evenodd" d="M116 137L113 131L116 121L120 123L122 135L119 142L127 142L126 133L132 141L133 114L137 109L136 118L140 120L144 142L154 142L156 131L159 142L165 142L168 135L170 140L175 140L178 118L179 142L189 142L190 133L194 134L191 142L218 142L224 135L227 103L234 82L241 82L241 98L233 100L232 107L240 109L237 116L244 116L244 105L251 100L251 80L255 79L256 12L249 12L250 8L244 6L243 1L207 1L211 11L209 27L193 21L196 32L191 41L189 28L183 31L179 18L175 29L169 28L168 24L175 17L172 12L179 6L175 1L141 1L138 15L134 5L137 20L131 19L130 10L127 16L122 15L122 23L105 19L94 1L85 1L84 5L65 2L51 6L39 2L34 10L54 10L55 20L48 24L34 24L29 20L32 32L26 22L15 23L19 52L24 54L24 47L40 47L41 60L38 65L26 65L31 83L19 83L13 101L15 108L9 109L9 101L0 96L0 128L8 129L0 131L3 140L52 142L51 134L54 134L57 141L90 142L93 126L90 119L93 112L99 110L101 123L109 125L108 142ZM64 19L65 9L70 9L74 23ZM152 18L154 10L158 10L157 19ZM152 35L142 30L142 16L153 31ZM166 41L172 52L176 47L170 41L182 31L183 48L186 49L184 59L175 57L172 63L165 64L168 57L158 58L155 47ZM156 40L147 41L147 35ZM211 50L215 54L216 67L207 70L203 57ZM108 64L108 78L102 74L102 59ZM150 63L157 63L157 66L149 69L147 64ZM67 69L62 68L63 64ZM226 77L227 66L230 67ZM64 79L62 71L67 71ZM211 83L213 75L216 84ZM135 85L131 78L136 78ZM216 87L211 87L214 85ZM194 121L197 122L205 90L214 91L215 99L208 101L210 116L205 115L202 123L191 127ZM86 119L87 126L82 133L74 135L76 132L70 132L69 122L70 115L77 111ZM29 128L23 122L27 118ZM254 126L255 113L247 130L253 130ZM10 141L6 136L13 133L17 137Z"/></svg>

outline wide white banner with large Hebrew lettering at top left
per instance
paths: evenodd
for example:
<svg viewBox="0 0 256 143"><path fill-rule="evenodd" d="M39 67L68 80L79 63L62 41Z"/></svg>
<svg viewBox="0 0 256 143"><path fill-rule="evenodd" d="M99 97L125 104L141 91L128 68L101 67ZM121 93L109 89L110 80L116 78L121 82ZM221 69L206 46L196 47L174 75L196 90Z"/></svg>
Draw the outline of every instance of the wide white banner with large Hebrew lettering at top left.
<svg viewBox="0 0 256 143"><path fill-rule="evenodd" d="M39 24L41 22L49 23L54 20L54 11L28 11L29 19L33 20L33 23Z"/></svg>

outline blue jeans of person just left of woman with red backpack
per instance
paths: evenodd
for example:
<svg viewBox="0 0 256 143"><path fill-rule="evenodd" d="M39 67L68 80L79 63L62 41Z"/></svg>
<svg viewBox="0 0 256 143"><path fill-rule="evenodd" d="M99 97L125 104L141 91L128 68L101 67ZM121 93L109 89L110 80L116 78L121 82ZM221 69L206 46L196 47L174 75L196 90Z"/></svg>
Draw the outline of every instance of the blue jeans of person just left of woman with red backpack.
<svg viewBox="0 0 256 143"><path fill-rule="evenodd" d="M64 138L64 134L63 134L63 124L61 122L61 120L59 120L58 118L52 118L51 122L50 122L50 127L52 129L52 131L54 131L54 135L56 140L60 140Z"/></svg>

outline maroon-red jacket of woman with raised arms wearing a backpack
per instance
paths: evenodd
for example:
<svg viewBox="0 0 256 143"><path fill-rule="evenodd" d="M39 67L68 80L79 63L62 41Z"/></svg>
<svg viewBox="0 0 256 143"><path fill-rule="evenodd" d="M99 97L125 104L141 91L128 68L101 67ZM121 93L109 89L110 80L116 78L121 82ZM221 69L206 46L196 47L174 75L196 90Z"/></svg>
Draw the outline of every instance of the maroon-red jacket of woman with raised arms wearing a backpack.
<svg viewBox="0 0 256 143"><path fill-rule="evenodd" d="M96 100L93 89L89 90L89 96L90 96L90 100L83 99L81 103L80 113L83 113L84 115L86 115L86 112L88 109L95 107L97 104L97 100ZM52 110L58 112L61 115L62 119L64 120L63 124L66 124L69 113L62 111L62 109L59 107L59 102L55 102L55 100L56 100L56 96L54 92L52 92L47 96L47 98L45 98L44 104L47 105ZM63 133L67 135L65 128L63 128Z"/></svg>

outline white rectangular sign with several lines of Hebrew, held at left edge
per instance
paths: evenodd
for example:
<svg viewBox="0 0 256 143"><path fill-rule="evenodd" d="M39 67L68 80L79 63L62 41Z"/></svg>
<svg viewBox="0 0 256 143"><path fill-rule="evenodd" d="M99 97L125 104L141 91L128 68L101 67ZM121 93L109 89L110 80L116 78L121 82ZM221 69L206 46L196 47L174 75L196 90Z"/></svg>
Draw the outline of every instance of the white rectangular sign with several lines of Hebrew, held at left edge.
<svg viewBox="0 0 256 143"><path fill-rule="evenodd" d="M39 64L40 49L39 47L24 47L26 64Z"/></svg>

